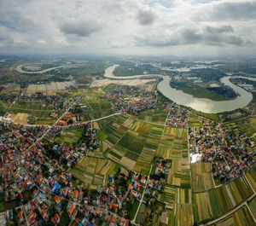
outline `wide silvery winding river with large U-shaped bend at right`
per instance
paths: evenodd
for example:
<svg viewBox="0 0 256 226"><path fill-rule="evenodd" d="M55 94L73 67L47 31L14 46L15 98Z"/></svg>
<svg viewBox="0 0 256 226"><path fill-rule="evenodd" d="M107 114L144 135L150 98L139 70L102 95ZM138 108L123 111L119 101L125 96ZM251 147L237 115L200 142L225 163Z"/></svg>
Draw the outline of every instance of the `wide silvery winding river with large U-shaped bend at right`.
<svg viewBox="0 0 256 226"><path fill-rule="evenodd" d="M113 65L108 67L105 70L105 77L106 78L114 78L114 79L129 79L129 78L143 78L145 76L149 76L148 74L144 75L134 75L134 76L122 76L117 77L113 75L113 71L119 65ZM221 78L220 81L226 85L230 85L230 87L235 90L239 96L236 97L234 100L230 101L212 101L207 98L198 98L187 93L184 93L182 90L176 90L170 86L171 78L169 76L163 76L160 74L153 74L152 76L158 76L163 78L162 81L158 84L157 88L160 92L169 98L171 101L176 102L177 104L192 107L196 111L201 111L203 113L222 113L222 112L229 112L236 110L238 108L246 107L247 104L253 100L253 95L251 92L242 89L241 87L237 86L236 84L232 84L230 82L230 78L246 78L249 80L256 81L256 78L249 78L243 76L226 76Z"/></svg>

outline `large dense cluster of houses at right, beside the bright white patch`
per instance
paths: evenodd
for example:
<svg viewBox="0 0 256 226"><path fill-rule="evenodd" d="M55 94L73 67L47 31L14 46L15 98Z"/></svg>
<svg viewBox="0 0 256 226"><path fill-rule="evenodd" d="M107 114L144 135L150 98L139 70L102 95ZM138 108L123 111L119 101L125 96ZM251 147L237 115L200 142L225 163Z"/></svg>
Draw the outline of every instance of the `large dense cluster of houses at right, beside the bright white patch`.
<svg viewBox="0 0 256 226"><path fill-rule="evenodd" d="M205 122L201 127L189 129L191 154L200 154L201 161L212 162L212 175L222 183L249 170L253 159L254 143L246 135L236 135L224 125Z"/></svg>

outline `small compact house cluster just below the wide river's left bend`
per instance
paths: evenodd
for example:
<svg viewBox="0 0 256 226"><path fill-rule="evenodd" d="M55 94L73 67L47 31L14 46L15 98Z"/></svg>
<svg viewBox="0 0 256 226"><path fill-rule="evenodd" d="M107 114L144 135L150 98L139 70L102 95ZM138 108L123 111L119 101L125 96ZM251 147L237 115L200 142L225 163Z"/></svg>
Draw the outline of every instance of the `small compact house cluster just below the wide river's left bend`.
<svg viewBox="0 0 256 226"><path fill-rule="evenodd" d="M169 113L166 119L166 125L178 128L185 128L189 124L189 112L186 108L180 107L175 103L167 105Z"/></svg>

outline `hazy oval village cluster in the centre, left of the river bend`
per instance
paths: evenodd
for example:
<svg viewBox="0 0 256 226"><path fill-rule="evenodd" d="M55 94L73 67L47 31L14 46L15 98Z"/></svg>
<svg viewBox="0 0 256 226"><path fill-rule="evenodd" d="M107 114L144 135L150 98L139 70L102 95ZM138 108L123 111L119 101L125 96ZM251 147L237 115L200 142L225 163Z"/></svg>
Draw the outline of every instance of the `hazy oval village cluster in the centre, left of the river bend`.
<svg viewBox="0 0 256 226"><path fill-rule="evenodd" d="M133 115L139 115L147 109L153 109L157 103L153 92L128 85L117 86L105 93L101 98L111 101L114 111L122 111Z"/></svg>

